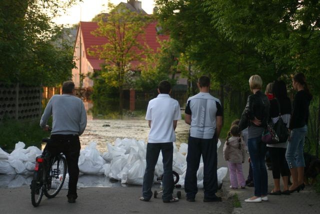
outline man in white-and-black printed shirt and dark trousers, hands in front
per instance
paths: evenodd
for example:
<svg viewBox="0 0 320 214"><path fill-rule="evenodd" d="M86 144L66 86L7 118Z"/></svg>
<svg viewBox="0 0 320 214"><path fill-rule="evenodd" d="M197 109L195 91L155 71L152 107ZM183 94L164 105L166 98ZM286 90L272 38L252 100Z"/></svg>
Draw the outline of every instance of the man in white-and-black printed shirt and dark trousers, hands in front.
<svg viewBox="0 0 320 214"><path fill-rule="evenodd" d="M184 190L186 199L194 201L197 193L196 172L203 159L204 202L221 201L217 191L216 144L222 127L222 107L219 99L209 94L210 79L201 76L197 86L200 92L189 97L185 108L185 123L191 125L186 156Z"/></svg>

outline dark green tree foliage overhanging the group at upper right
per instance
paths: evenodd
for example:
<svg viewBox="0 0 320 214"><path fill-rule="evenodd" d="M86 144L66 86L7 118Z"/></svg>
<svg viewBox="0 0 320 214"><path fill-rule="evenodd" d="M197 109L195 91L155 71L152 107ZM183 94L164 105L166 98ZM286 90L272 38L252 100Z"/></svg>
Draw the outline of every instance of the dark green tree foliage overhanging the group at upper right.
<svg viewBox="0 0 320 214"><path fill-rule="evenodd" d="M303 72L319 90L319 1L156 0L158 17L191 64L186 76L207 74L244 90ZM190 75L191 74L191 75Z"/></svg>

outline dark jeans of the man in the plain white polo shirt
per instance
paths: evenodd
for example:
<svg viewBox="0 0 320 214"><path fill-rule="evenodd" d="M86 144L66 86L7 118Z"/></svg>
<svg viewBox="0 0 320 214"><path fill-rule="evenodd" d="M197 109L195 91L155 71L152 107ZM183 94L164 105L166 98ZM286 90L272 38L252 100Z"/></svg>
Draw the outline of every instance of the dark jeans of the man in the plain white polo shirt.
<svg viewBox="0 0 320 214"><path fill-rule="evenodd" d="M143 176L142 196L150 199L152 196L151 187L154 178L154 167L162 152L163 177L162 177L162 200L170 200L174 187L172 174L173 144L169 143L148 143L146 145L146 167Z"/></svg>

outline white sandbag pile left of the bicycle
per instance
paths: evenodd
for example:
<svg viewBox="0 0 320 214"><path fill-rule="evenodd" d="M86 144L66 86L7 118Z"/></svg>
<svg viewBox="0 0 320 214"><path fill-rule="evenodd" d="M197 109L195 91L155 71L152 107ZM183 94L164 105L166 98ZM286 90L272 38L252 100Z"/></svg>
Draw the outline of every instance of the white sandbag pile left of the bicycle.
<svg viewBox="0 0 320 214"><path fill-rule="evenodd" d="M25 144L18 142L8 154L0 148L0 174L32 174L35 157L42 152L35 146L24 149Z"/></svg>

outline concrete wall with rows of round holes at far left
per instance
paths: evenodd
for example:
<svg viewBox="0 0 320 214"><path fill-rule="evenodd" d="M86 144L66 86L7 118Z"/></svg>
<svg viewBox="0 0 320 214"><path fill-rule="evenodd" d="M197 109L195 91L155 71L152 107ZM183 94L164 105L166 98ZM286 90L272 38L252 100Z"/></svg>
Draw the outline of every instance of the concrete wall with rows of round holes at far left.
<svg viewBox="0 0 320 214"><path fill-rule="evenodd" d="M32 119L41 114L41 88L0 83L0 121Z"/></svg>

